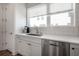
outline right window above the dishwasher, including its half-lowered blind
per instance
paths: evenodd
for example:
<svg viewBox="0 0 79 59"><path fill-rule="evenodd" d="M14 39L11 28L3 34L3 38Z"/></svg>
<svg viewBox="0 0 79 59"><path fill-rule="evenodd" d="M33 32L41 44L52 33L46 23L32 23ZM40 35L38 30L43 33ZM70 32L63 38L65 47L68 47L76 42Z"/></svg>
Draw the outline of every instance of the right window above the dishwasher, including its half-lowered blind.
<svg viewBox="0 0 79 59"><path fill-rule="evenodd" d="M73 15L72 3L49 4L50 26L71 26Z"/></svg>

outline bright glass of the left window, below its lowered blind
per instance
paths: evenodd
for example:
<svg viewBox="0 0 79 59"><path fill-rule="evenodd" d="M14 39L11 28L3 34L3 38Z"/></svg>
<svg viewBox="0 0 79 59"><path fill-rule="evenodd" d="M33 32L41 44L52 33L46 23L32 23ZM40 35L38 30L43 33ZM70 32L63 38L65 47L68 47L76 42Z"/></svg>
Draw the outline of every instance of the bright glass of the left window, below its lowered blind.
<svg viewBox="0 0 79 59"><path fill-rule="evenodd" d="M29 18L29 25L30 27L45 27L47 26L47 16Z"/></svg>

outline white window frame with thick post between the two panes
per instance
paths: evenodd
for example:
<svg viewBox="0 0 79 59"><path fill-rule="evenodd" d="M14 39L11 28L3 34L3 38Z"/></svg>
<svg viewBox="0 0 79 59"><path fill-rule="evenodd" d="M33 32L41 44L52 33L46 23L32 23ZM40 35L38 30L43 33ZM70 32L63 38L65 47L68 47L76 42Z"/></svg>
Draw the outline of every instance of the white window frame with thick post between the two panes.
<svg viewBox="0 0 79 59"><path fill-rule="evenodd" d="M71 24L71 27L74 27L76 24L75 24L75 3L73 3L73 9L71 9L71 10L65 10L65 11L59 11L59 12L55 12L55 13L50 13L50 11L49 11L49 7L50 7L50 3L46 3L46 6L47 6L47 14L45 14L45 15L47 15L47 27L56 27L56 26L51 26L51 23L50 23L50 15L54 15L54 14L59 14L59 13L65 13L65 12L70 12L70 11L73 11L73 19L71 19L71 22L73 22L72 24ZM27 9L26 9L27 10ZM39 16L44 16L44 15L39 15ZM39 16L34 16L34 17L39 17ZM29 24L28 24L28 21L29 19L27 18L27 25L29 26ZM57 27L63 27L63 25L62 26L57 26ZM67 26L66 26L67 27Z"/></svg>

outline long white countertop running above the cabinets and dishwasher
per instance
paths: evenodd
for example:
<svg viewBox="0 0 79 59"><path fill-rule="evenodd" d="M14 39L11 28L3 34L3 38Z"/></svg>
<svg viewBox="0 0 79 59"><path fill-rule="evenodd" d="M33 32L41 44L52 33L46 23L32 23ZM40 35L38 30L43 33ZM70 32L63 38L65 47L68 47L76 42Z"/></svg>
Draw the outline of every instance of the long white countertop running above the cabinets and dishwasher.
<svg viewBox="0 0 79 59"><path fill-rule="evenodd" d="M33 36L33 35L27 35L27 34L22 34L22 33L18 33L16 35L23 35L23 36L36 37L36 38L41 38L41 39L79 44L79 37L76 37L76 36L58 36L58 35Z"/></svg>

